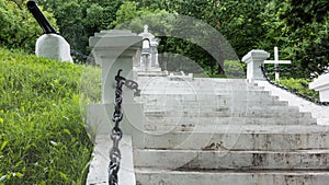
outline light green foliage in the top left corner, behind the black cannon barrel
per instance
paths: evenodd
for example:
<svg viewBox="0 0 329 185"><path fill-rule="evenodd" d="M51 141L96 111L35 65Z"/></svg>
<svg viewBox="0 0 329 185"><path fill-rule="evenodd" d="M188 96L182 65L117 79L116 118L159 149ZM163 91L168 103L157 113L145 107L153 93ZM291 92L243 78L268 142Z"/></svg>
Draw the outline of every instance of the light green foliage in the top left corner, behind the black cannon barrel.
<svg viewBox="0 0 329 185"><path fill-rule="evenodd" d="M35 42L42 35L42 28L29 12L25 1L0 1L0 46L22 48L34 51ZM49 12L43 11L56 27L56 21Z"/></svg>

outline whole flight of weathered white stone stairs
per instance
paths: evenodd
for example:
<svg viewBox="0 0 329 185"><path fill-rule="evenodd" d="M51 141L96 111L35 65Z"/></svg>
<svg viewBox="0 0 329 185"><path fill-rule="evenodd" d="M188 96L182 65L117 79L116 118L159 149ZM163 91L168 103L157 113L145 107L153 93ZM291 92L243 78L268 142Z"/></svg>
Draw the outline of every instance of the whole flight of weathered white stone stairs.
<svg viewBox="0 0 329 185"><path fill-rule="evenodd" d="M241 79L139 77L136 184L329 184L329 127ZM134 142L134 141L133 141Z"/></svg>

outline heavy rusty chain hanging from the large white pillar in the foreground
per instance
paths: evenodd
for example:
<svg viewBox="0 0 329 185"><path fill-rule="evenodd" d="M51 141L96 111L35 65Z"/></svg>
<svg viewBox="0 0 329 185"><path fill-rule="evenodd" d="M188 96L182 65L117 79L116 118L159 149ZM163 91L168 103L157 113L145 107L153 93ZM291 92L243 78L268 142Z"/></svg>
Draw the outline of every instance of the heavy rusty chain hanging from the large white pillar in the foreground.
<svg viewBox="0 0 329 185"><path fill-rule="evenodd" d="M126 80L124 77L120 76L122 69L117 71L115 76L116 86L115 86L115 97L114 97L114 113L112 115L112 120L114 122L114 127L111 131L111 139L113 141L113 147L110 150L110 165L109 165L109 184L117 185L118 178L117 173L121 163L121 151L118 148L118 142L123 137L123 131L120 128L120 122L123 119L122 102L123 102L123 85L134 90L135 95L139 95L138 83L133 80Z"/></svg>

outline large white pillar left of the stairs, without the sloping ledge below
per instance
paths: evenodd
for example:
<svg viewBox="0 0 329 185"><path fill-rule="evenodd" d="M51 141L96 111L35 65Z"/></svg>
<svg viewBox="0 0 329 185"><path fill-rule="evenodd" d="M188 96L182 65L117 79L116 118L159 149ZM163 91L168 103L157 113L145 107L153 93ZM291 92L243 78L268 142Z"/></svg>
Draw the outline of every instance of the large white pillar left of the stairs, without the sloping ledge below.
<svg viewBox="0 0 329 185"><path fill-rule="evenodd" d="M90 104L88 107L88 125L97 135L110 135L113 127L112 115L114 112L114 80L118 69L121 76L134 79L133 63L141 49L141 37L131 31L101 31L89 38L95 62L102 68L102 103ZM139 60L139 58L138 58ZM124 118L121 128L124 134L132 135L136 146L143 146L144 139L140 130L143 126L141 105L135 103L134 91L123 86Z"/></svg>

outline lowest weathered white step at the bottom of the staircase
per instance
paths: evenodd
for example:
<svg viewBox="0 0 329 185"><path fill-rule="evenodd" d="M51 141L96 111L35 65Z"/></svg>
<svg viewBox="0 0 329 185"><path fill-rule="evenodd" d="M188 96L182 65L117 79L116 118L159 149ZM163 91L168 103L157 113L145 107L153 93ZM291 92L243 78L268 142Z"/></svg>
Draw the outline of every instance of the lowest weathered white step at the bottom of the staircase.
<svg viewBox="0 0 329 185"><path fill-rule="evenodd" d="M137 185L328 185L328 171L170 171L137 169Z"/></svg>

